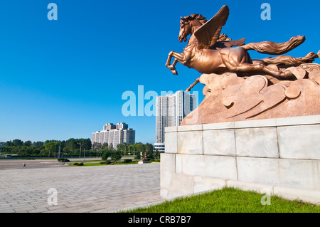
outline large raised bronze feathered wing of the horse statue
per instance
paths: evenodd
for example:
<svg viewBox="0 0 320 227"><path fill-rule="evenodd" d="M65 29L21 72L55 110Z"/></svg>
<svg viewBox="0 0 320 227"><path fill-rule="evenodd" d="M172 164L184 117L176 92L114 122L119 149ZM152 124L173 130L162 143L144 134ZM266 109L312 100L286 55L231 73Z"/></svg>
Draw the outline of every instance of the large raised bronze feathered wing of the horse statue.
<svg viewBox="0 0 320 227"><path fill-rule="evenodd" d="M210 49L218 41L222 27L229 17L228 6L223 6L218 14L215 14L210 21L204 23L194 32L198 39L198 49Z"/></svg>

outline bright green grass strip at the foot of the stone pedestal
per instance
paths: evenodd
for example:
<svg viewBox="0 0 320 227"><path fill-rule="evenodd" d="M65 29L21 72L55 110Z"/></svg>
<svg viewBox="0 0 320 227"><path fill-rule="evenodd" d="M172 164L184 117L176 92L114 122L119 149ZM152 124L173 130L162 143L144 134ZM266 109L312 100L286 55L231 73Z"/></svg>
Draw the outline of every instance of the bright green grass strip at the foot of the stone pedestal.
<svg viewBox="0 0 320 227"><path fill-rule="evenodd" d="M270 205L262 205L265 194L223 188L161 204L134 208L127 213L320 213L320 206L302 201L289 201L279 196L270 197Z"/></svg>

